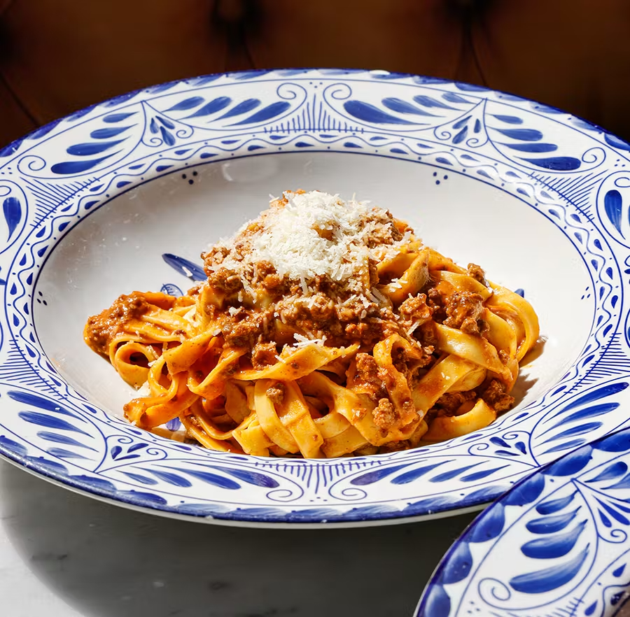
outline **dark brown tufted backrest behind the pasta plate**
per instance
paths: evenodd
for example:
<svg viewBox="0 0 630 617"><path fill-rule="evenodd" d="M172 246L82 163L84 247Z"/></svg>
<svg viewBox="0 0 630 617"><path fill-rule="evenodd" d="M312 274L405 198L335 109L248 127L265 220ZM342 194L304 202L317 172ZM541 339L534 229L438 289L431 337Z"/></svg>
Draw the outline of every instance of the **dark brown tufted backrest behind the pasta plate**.
<svg viewBox="0 0 630 617"><path fill-rule="evenodd" d="M628 0L0 0L0 147L130 90L325 66L486 85L630 139Z"/></svg>

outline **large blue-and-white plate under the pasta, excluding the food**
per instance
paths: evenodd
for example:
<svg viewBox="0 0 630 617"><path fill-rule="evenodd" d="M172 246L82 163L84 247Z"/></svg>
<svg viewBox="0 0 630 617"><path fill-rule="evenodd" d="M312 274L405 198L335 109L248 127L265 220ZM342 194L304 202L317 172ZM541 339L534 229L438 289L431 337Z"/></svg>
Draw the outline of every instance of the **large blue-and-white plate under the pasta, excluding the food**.
<svg viewBox="0 0 630 617"><path fill-rule="evenodd" d="M481 87L384 71L214 75L125 94L0 151L0 453L116 502L238 524L394 523L478 508L629 426L630 146ZM356 193L521 290L542 338L496 423L338 460L214 453L123 418L82 340L120 293L179 293L269 193ZM174 427L176 428L176 427Z"/></svg>

